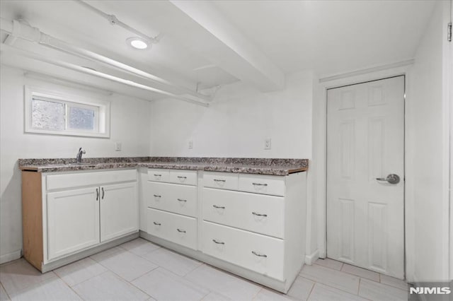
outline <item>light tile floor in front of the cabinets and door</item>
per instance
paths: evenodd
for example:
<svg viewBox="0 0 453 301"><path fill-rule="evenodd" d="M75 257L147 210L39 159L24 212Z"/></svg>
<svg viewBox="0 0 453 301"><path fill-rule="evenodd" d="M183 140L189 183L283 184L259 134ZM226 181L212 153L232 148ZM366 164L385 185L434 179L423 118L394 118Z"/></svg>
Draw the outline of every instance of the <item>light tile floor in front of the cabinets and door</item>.
<svg viewBox="0 0 453 301"><path fill-rule="evenodd" d="M287 295L137 239L42 274L24 259L0 266L0 300L407 300L407 284L318 259Z"/></svg>

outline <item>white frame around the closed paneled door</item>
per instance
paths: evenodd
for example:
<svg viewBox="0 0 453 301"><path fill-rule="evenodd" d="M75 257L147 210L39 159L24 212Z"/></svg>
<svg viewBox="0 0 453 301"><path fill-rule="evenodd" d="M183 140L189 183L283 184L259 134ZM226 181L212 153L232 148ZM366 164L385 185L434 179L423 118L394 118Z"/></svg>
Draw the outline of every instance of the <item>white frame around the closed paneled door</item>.
<svg viewBox="0 0 453 301"><path fill-rule="evenodd" d="M338 88L343 85L352 85L356 83L363 83L366 81L375 81L382 78L389 78L393 76L405 76L405 91L406 101L404 103L405 116L404 116L404 174L406 175L406 182L404 187L404 232L405 232L405 274L406 279L410 282L413 281L413 245L414 245L414 232L413 232L413 170L415 165L409 158L413 157L413 148L411 148L411 133L408 131L408 124L413 124L411 117L411 110L408 107L410 95L408 95L408 83L411 78L411 66L413 60L401 61L395 64L386 66L377 66L363 71L353 71L344 73L338 76L329 76L321 78L319 84L314 85L314 104L313 104L313 164L311 165L311 197L314 206L312 216L316 216L317 223L312 225L317 228L317 234L314 232L307 233L307 235L317 235L317 239L307 237L307 242L317 241L317 251L320 258L326 258L327 245L326 245L326 167L327 167L327 90L331 88ZM314 246L308 246L308 249L314 249Z"/></svg>

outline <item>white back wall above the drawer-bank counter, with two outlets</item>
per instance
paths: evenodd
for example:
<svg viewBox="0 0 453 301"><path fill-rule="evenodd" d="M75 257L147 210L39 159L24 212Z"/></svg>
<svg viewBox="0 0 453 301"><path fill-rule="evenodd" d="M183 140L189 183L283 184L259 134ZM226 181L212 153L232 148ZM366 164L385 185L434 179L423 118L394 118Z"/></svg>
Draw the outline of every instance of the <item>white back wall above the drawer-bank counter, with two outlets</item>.
<svg viewBox="0 0 453 301"><path fill-rule="evenodd" d="M312 93L313 74L298 72L277 92L261 93L240 82L226 85L210 107L154 101L151 155L311 158ZM272 149L264 150L265 138L272 138Z"/></svg>

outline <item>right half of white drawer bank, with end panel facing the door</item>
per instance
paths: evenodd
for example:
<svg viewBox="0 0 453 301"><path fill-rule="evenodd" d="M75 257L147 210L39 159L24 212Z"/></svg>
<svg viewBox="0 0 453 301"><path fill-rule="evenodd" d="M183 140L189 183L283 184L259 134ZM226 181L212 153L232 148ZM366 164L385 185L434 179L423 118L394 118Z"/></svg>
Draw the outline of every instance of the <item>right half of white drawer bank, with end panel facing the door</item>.
<svg viewBox="0 0 453 301"><path fill-rule="evenodd" d="M306 173L239 174L234 189L236 177L203 179L202 252L280 281L273 288L286 293L304 264Z"/></svg>

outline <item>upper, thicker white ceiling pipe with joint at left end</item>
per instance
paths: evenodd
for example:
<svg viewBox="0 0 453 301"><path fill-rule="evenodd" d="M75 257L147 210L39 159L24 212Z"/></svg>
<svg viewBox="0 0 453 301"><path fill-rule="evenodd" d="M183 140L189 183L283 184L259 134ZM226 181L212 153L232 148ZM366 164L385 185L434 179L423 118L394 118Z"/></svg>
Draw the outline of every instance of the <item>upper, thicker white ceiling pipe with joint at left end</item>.
<svg viewBox="0 0 453 301"><path fill-rule="evenodd" d="M0 29L4 32L12 35L13 37L20 37L24 40L28 40L30 42L36 42L40 45L50 47L52 49L57 49L61 52L67 52L69 54L76 55L78 57L82 57L84 59L89 59L91 61L96 61L102 64L106 64L108 66L112 66L115 69L120 69L122 71L126 71L127 73L131 73L134 76L139 76L142 78L146 78L148 80L154 81L156 83L161 83L164 85L170 85L172 87L177 88L182 93L191 95L191 98L195 98L200 100L200 102L207 102L212 100L210 96L202 95L197 93L196 91L190 90L188 88L182 87L180 85L176 85L175 83L171 83L170 81L166 81L164 78L160 78L159 76L154 76L151 73L147 73L140 69L134 68L127 64L123 64L120 61L115 61L114 59L110 59L109 57L105 57L101 54L97 54L96 52L91 52L89 50L83 49L81 47L77 47L71 45L67 42L59 40L55 37L42 33L38 28L33 28L30 25L25 23L19 22L18 20L6 20L4 18L0 18ZM156 89L161 90L161 89ZM173 93L171 93L173 94Z"/></svg>

